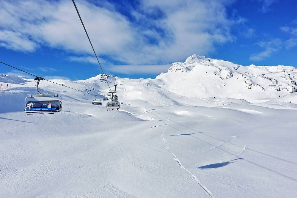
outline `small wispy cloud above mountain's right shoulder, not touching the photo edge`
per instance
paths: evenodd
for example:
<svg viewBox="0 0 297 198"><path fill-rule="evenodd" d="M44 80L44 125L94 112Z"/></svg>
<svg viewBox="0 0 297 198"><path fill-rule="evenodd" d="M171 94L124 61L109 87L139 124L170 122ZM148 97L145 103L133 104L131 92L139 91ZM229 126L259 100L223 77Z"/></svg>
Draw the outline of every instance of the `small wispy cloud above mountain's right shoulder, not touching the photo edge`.
<svg viewBox="0 0 297 198"><path fill-rule="evenodd" d="M271 56L276 51L279 51L282 48L282 41L280 39L273 39L266 42L259 42L257 45L259 45L261 48L264 48L264 51L252 54L249 57L249 60L251 61L261 61Z"/></svg>

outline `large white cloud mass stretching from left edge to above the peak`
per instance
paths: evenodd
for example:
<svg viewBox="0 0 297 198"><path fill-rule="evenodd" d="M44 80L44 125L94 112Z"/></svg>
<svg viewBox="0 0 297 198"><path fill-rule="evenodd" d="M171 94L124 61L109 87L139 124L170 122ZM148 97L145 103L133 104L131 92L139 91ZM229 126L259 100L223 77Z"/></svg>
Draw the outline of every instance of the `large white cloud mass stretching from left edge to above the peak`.
<svg viewBox="0 0 297 198"><path fill-rule="evenodd" d="M232 40L230 28L235 22L225 9L230 1L142 0L131 8L132 21L107 1L103 1L106 7L86 0L76 4L98 55L125 64L154 65L207 54L217 43ZM70 61L94 63L71 1L0 0L0 12L1 46L32 52L46 45L86 54L69 57Z"/></svg>

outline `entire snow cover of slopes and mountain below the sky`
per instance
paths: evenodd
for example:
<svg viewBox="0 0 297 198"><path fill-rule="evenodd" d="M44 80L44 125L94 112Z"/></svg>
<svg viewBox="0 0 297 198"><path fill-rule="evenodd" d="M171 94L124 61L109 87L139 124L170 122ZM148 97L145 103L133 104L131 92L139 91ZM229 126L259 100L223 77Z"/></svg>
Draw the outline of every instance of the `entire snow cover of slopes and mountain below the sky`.
<svg viewBox="0 0 297 198"><path fill-rule="evenodd" d="M52 80L86 93L40 81L62 112L33 115L36 81L1 75L0 197L296 197L296 73L193 55L155 79L106 75L118 111L92 105L103 75Z"/></svg>

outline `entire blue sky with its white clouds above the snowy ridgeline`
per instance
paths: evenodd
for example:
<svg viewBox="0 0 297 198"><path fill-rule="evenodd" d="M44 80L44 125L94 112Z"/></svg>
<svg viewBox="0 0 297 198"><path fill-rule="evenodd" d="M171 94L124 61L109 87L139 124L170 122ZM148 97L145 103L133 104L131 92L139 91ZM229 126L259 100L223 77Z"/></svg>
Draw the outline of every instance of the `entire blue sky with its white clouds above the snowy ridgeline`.
<svg viewBox="0 0 297 198"><path fill-rule="evenodd" d="M297 1L75 2L111 75L155 78L192 54L297 67ZM0 13L1 62L46 79L102 73L71 0L0 0ZM26 76L2 64L0 73Z"/></svg>

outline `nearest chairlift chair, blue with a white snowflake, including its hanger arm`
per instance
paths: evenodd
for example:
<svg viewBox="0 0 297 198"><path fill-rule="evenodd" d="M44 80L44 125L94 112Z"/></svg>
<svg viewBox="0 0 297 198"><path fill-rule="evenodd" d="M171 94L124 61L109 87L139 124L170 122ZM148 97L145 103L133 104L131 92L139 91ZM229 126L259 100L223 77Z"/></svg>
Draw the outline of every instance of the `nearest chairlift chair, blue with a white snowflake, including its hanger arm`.
<svg viewBox="0 0 297 198"><path fill-rule="evenodd" d="M27 114L54 114L54 112L62 111L62 97L58 94L42 94L38 91L38 84L40 80L43 80L41 77L34 78L37 80L36 91L37 95L29 95L25 98L25 112ZM36 97L43 97L43 100L37 100ZM45 98L50 97L48 100L44 100ZM60 97L61 100L53 100L52 97ZM29 99L30 98L30 99Z"/></svg>

